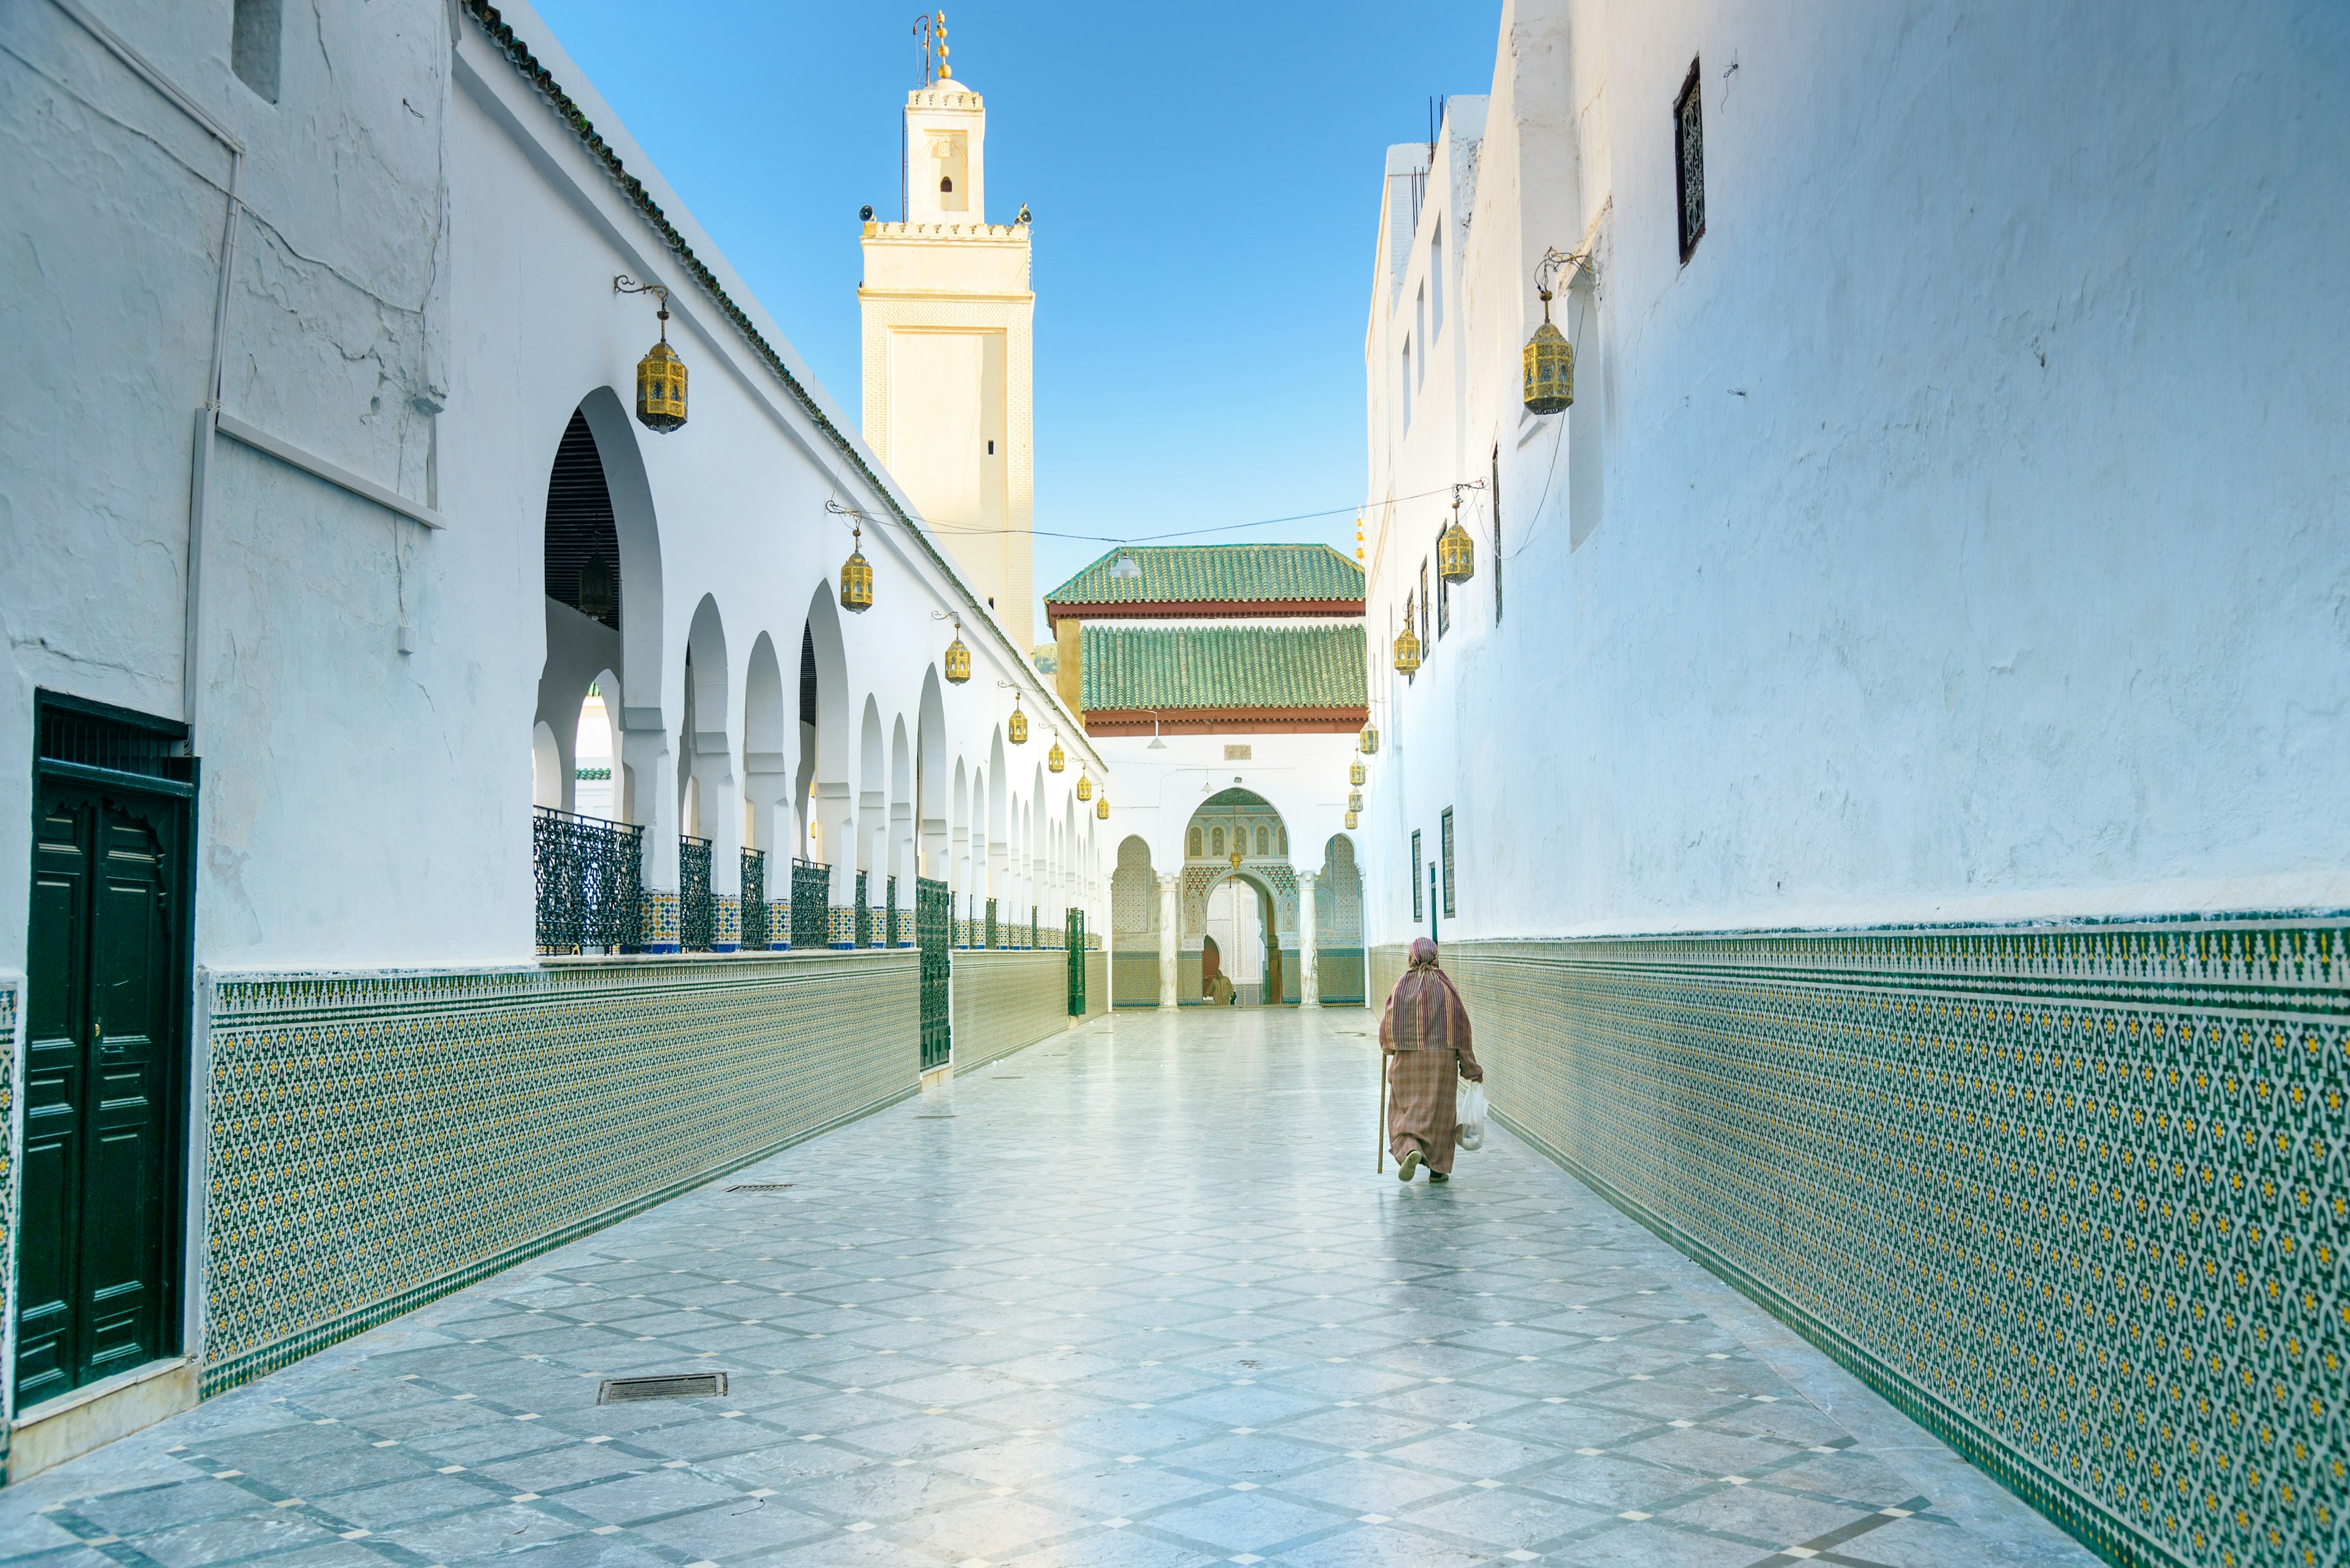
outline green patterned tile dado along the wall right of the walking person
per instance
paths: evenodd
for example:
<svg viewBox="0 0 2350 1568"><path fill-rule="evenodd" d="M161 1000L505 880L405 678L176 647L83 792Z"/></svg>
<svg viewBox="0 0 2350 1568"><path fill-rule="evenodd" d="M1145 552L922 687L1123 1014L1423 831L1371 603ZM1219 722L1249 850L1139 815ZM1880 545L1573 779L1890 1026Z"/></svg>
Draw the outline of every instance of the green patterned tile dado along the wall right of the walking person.
<svg viewBox="0 0 2350 1568"><path fill-rule="evenodd" d="M2106 1559L2350 1561L2350 922L1445 966L1513 1128Z"/></svg>

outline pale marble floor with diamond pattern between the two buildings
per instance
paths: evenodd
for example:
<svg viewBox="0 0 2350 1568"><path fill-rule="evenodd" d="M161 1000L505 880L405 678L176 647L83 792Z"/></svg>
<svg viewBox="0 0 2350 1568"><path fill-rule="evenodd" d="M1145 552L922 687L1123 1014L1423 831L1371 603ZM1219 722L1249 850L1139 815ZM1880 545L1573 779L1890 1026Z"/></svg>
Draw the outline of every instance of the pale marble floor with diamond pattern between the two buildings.
<svg viewBox="0 0 2350 1568"><path fill-rule="evenodd" d="M2092 1563L1361 1011L1097 1020L0 1490L0 1559ZM597 1403L724 1373L719 1399Z"/></svg>

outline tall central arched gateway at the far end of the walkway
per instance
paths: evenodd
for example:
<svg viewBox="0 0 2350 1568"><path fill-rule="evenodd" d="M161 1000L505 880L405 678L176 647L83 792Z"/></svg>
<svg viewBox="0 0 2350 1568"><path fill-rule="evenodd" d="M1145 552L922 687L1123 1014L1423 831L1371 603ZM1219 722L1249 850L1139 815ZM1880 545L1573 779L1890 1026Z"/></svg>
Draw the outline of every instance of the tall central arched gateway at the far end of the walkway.
<svg viewBox="0 0 2350 1568"><path fill-rule="evenodd" d="M1300 973L1288 823L1255 790L1210 795L1184 827L1175 999L1278 1006L1300 999Z"/></svg>

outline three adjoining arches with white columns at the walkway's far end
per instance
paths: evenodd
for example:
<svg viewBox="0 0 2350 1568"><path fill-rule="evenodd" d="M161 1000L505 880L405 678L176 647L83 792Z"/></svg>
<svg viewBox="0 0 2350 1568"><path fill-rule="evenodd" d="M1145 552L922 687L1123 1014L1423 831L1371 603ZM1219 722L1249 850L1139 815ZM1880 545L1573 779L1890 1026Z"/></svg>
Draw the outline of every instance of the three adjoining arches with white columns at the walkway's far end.
<svg viewBox="0 0 2350 1568"><path fill-rule="evenodd" d="M1290 832L1262 795L1210 795L1182 835L1182 870L1119 844L1112 900L1116 1006L1295 1006L1363 1001L1363 872L1354 839L1290 863Z"/></svg>

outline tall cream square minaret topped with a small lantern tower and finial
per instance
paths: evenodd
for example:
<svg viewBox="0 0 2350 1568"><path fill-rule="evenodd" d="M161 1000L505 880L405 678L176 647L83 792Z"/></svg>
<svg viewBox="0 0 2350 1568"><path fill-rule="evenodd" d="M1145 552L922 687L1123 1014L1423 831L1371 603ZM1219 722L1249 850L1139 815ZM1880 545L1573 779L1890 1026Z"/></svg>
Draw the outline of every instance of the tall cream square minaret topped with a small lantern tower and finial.
<svg viewBox="0 0 2350 1568"><path fill-rule="evenodd" d="M987 103L947 63L905 94L905 221L865 223L865 442L964 578L1034 637L1027 207L987 221ZM928 68L924 68L928 78Z"/></svg>

